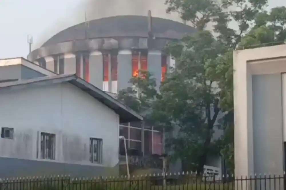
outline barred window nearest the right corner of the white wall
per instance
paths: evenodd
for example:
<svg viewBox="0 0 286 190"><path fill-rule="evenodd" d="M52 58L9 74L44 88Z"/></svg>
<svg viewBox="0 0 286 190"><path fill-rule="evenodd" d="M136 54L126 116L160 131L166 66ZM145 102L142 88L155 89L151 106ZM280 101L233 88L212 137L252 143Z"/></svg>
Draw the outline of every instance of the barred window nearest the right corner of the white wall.
<svg viewBox="0 0 286 190"><path fill-rule="evenodd" d="M90 162L102 163L102 139L90 138Z"/></svg>

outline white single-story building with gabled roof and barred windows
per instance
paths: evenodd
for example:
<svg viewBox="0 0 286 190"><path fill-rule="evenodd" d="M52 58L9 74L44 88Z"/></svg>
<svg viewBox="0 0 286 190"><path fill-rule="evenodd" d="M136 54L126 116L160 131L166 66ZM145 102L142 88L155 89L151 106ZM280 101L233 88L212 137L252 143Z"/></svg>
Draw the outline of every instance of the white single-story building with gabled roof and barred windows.
<svg viewBox="0 0 286 190"><path fill-rule="evenodd" d="M0 178L118 174L119 123L143 118L75 75L0 83Z"/></svg>

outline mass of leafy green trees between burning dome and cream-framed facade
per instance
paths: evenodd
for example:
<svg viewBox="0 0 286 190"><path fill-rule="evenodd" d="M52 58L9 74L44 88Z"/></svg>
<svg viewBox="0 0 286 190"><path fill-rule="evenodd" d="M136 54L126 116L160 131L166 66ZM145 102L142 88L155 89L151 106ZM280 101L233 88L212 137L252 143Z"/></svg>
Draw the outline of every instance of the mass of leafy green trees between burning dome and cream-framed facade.
<svg viewBox="0 0 286 190"><path fill-rule="evenodd" d="M166 0L165 4L167 12L177 12L197 31L166 47L176 68L167 74L160 93L147 72L148 77L132 78L137 88L121 91L119 98L138 112L148 110L149 124L176 131L167 144L186 170L201 173L207 155L220 153L233 171L233 50L283 43L286 8L267 12L267 0ZM138 89L142 95L136 98ZM214 139L217 126L224 135Z"/></svg>

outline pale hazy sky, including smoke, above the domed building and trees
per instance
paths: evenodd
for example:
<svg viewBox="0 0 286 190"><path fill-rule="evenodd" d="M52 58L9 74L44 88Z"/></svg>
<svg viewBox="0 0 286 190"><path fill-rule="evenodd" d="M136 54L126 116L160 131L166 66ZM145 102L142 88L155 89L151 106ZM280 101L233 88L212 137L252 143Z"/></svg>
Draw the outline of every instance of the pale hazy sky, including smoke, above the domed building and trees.
<svg viewBox="0 0 286 190"><path fill-rule="evenodd" d="M118 3L110 3L117 1ZM135 5L124 10L126 4ZM143 2L143 3L142 3ZM137 15L147 15L178 20L176 16L164 13L164 0L0 0L0 59L26 57L29 51L27 35L33 35L33 46L41 45L57 31L84 21L85 11L90 19L128 15L136 11ZM104 4L96 6L98 4ZM107 6L114 5L107 9ZM269 7L286 6L285 0L269 0Z"/></svg>

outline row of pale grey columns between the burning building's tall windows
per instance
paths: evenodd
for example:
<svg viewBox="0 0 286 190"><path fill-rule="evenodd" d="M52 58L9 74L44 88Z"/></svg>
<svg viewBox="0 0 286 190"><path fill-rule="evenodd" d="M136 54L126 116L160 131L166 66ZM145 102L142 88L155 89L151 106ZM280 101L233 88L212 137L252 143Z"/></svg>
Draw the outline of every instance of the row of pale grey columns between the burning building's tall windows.
<svg viewBox="0 0 286 190"><path fill-rule="evenodd" d="M77 63L79 58L76 56L80 55L80 62ZM43 66L57 74L75 74L77 73L77 64L80 64L80 73L78 76L84 78L84 63L83 56L86 55L84 52L81 54L64 54L52 57L48 56L42 60L38 60L35 63ZM63 59L63 73L59 73L59 59ZM55 64L57 61L57 64ZM119 50L117 55L117 81L112 81L112 77L108 77L108 81L103 81L103 56L100 51L93 51L88 54L88 70L89 79L88 82L94 86L100 88L101 90L117 93L119 90L125 89L129 84L129 80L132 77L132 51L131 50ZM109 54L108 61L109 76L111 76L111 56ZM57 68L55 68L57 66ZM147 66L148 71L153 74L156 78L157 88L160 86L161 82L161 52L159 50L149 50L147 56ZM167 58L167 66L174 66L174 60L170 57ZM85 78L84 78L85 79ZM104 87L105 86L105 87Z"/></svg>

